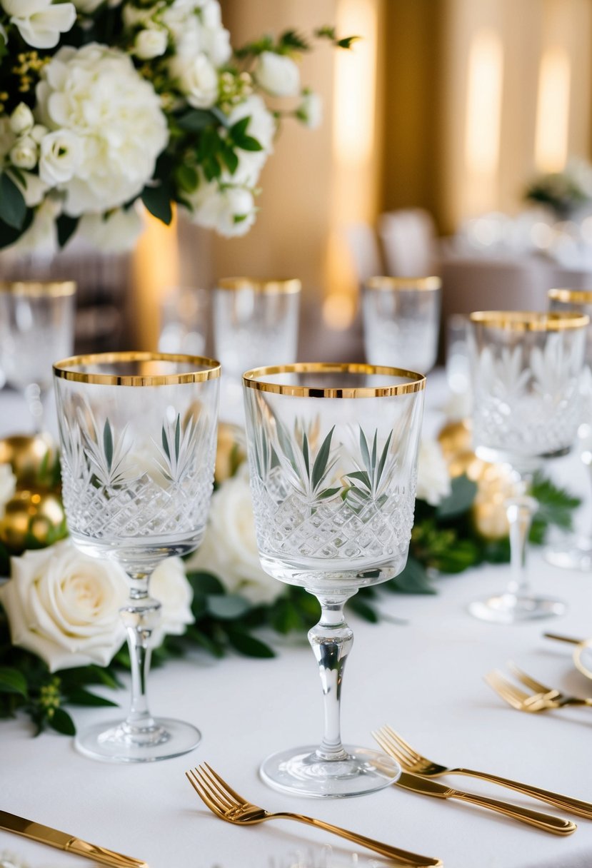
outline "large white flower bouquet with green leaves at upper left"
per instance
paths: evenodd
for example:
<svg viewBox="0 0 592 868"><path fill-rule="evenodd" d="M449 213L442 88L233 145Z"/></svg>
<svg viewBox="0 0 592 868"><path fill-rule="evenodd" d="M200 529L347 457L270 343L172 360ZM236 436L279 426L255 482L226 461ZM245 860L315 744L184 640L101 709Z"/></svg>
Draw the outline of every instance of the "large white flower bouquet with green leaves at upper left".
<svg viewBox="0 0 592 868"><path fill-rule="evenodd" d="M0 0L0 247L130 247L140 203L247 233L280 119L319 124L311 47L287 30L233 50L218 0Z"/></svg>

